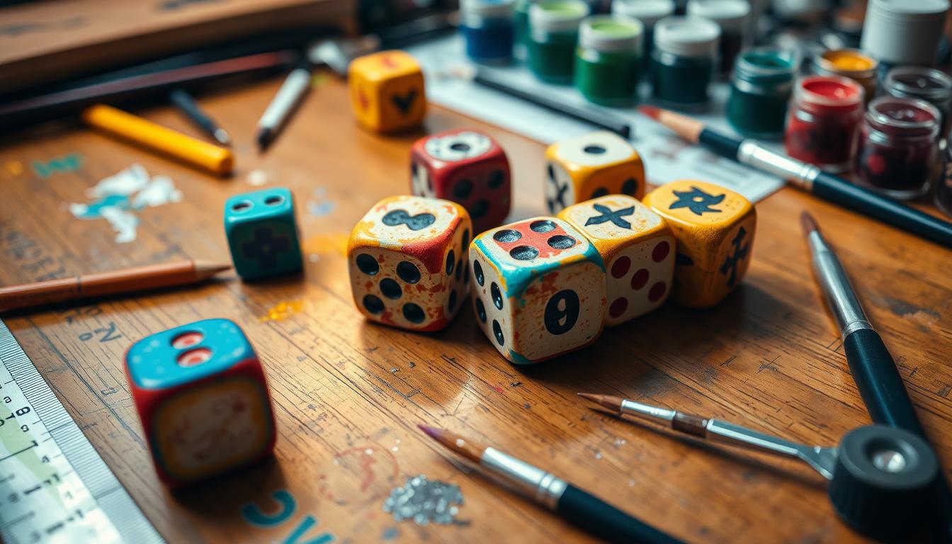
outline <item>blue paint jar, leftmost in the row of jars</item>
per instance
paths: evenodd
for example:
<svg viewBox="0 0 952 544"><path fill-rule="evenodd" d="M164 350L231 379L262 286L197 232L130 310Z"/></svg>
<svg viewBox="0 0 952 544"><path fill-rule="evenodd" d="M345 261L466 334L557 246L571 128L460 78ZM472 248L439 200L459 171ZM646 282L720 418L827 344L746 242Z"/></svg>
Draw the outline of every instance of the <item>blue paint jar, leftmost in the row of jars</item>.
<svg viewBox="0 0 952 544"><path fill-rule="evenodd" d="M460 30L466 37L466 55L480 63L512 59L515 0L461 0Z"/></svg>

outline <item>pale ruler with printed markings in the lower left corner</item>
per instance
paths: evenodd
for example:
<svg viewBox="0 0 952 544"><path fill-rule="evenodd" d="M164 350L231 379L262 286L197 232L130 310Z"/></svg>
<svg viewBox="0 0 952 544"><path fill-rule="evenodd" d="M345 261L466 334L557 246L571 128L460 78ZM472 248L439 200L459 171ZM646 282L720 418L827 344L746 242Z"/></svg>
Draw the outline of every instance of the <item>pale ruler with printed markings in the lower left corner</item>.
<svg viewBox="0 0 952 544"><path fill-rule="evenodd" d="M0 321L0 536L163 542Z"/></svg>

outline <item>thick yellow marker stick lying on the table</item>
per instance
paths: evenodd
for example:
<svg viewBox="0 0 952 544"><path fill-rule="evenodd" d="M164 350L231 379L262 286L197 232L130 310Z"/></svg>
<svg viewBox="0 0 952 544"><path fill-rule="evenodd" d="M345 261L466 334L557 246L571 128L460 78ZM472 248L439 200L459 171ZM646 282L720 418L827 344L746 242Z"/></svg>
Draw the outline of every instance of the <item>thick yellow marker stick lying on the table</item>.
<svg viewBox="0 0 952 544"><path fill-rule="evenodd" d="M231 173L234 155L230 150L172 131L151 121L111 106L97 104L83 111L90 127L109 132L153 151L165 153L216 175Z"/></svg>

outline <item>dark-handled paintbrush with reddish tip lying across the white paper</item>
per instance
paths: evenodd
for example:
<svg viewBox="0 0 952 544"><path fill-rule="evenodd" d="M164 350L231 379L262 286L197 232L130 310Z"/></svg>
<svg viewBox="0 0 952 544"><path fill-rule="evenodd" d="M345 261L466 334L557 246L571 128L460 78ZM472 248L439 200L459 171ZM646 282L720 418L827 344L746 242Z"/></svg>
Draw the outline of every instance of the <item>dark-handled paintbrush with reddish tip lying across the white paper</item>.
<svg viewBox="0 0 952 544"><path fill-rule="evenodd" d="M768 150L754 140L744 140L714 131L704 126L703 121L692 117L653 106L641 106L638 110L675 131L688 142L701 144L721 156L775 174L823 200L875 217L903 231L952 248L952 223L948 221L853 185L842 177L822 171L814 165Z"/></svg>

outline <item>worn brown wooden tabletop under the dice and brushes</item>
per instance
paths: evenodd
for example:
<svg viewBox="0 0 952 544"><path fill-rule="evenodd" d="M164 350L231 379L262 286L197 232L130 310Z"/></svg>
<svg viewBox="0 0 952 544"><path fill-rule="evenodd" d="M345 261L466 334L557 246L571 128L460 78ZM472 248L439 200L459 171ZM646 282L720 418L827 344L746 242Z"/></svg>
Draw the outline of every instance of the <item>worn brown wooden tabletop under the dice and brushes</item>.
<svg viewBox="0 0 952 544"><path fill-rule="evenodd" d="M280 81L203 100L236 136L231 179L208 177L87 130L8 141L0 150L0 283L181 258L228 260L223 203L252 191L248 173L297 198L306 253L301 278L244 285L234 277L197 289L129 296L7 319L37 367L109 467L170 541L438 542L587 541L529 501L462 472L420 433L445 427L566 476L626 511L690 541L860 540L833 513L823 479L794 461L713 448L592 410L576 392L616 393L721 417L807 443L833 445L869 423L841 342L808 264L798 214L809 209L851 272L872 322L897 358L923 423L952 467L950 253L908 234L784 189L757 205L759 229L744 284L704 312L674 304L607 330L593 347L536 367L504 360L462 312L437 334L365 321L354 308L343 255L347 234L381 197L408 191L408 150L424 131L381 137L354 124L345 86L315 89L267 154L250 144ZM169 109L150 119L192 132ZM543 213L544 146L433 108L425 131L475 126L513 163L513 218ZM42 179L33 161L71 152L82 166ZM75 219L99 179L144 165L183 191L177 204L141 212L138 239L116 244L103 220ZM22 168L21 173L17 165ZM647 164L650 175L650 162ZM308 202L327 212L309 213ZM321 204L323 203L323 204ZM303 311L262 320L303 301ZM228 317L263 358L278 421L273 461L182 493L156 479L129 397L123 354L152 332ZM98 332L97 332L98 331ZM395 523L382 511L408 476L458 483L453 526ZM286 521L253 527L246 505ZM308 517L310 516L310 517ZM287 540L286 540L287 539Z"/></svg>

